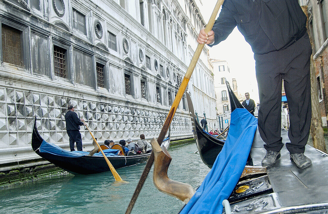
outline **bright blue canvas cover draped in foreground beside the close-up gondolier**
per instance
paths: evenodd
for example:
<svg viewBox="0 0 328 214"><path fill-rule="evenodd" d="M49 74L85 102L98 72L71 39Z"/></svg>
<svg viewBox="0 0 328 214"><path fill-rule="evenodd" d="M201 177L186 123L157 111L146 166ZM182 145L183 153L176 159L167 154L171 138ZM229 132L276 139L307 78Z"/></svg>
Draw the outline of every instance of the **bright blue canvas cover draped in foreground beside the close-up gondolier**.
<svg viewBox="0 0 328 214"><path fill-rule="evenodd" d="M222 213L222 201L228 199L244 170L256 128L257 118L246 109L237 108L231 113L224 146L211 171L181 214Z"/></svg>

